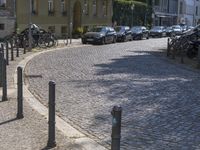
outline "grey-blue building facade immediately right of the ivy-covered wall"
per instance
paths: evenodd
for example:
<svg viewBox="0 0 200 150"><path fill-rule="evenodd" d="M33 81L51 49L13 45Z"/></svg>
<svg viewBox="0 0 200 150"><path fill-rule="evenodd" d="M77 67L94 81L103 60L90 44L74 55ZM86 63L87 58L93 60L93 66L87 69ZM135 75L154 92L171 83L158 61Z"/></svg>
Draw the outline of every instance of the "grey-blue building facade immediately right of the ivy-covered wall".
<svg viewBox="0 0 200 150"><path fill-rule="evenodd" d="M170 26L177 23L178 0L152 0L153 24Z"/></svg>

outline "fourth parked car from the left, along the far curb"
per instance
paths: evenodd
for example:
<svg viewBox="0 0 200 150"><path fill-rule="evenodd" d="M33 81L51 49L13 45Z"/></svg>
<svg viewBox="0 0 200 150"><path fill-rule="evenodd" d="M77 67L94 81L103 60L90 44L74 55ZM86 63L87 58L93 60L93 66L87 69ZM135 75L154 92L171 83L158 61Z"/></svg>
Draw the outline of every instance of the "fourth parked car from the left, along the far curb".
<svg viewBox="0 0 200 150"><path fill-rule="evenodd" d="M166 36L166 30L164 26L154 26L150 32L149 35L151 37L165 37Z"/></svg>

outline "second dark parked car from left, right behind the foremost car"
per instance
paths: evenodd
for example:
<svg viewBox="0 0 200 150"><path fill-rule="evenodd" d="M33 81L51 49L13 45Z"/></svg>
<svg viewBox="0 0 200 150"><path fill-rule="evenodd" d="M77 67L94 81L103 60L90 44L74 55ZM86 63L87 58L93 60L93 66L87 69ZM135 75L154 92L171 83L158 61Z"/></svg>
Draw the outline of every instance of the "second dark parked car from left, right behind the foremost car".
<svg viewBox="0 0 200 150"><path fill-rule="evenodd" d="M116 26L115 31L117 32L117 41L125 42L131 41L131 30L128 26Z"/></svg>

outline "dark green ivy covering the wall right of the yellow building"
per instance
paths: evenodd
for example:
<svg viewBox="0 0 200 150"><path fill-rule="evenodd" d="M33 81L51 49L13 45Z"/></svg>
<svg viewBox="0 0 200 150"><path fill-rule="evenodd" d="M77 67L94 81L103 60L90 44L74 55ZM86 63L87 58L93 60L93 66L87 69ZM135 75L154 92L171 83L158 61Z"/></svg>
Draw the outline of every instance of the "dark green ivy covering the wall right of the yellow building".
<svg viewBox="0 0 200 150"><path fill-rule="evenodd" d="M151 25L151 7L146 0L115 0L113 3L113 22L118 25ZM134 9L131 6L134 4ZM133 22L132 22L133 21Z"/></svg>

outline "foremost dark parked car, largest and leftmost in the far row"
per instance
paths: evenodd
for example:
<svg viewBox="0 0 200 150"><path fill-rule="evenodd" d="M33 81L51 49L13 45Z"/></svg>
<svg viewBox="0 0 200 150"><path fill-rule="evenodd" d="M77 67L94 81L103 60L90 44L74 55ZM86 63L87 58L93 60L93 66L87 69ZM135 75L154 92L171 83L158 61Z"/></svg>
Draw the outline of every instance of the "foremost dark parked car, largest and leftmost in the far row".
<svg viewBox="0 0 200 150"><path fill-rule="evenodd" d="M87 44L107 44L115 43L117 39L116 31L112 27L94 27L82 36L82 43Z"/></svg>

